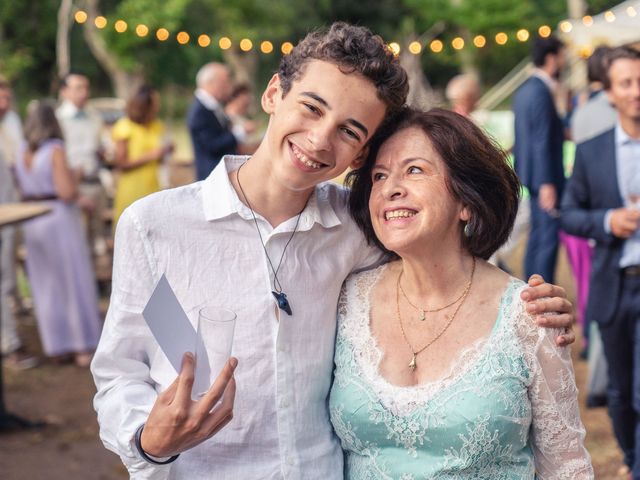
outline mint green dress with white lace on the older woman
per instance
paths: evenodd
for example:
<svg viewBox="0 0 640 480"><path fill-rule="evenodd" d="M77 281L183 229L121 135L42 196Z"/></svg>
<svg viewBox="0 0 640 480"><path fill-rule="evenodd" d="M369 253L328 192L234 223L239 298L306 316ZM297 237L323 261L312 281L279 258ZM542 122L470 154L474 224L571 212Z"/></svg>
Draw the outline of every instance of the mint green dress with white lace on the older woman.
<svg viewBox="0 0 640 480"><path fill-rule="evenodd" d="M369 294L386 267L349 277L338 306L333 427L345 478L590 479L569 350L538 328L513 279L488 338L446 378L399 387L378 374Z"/></svg>

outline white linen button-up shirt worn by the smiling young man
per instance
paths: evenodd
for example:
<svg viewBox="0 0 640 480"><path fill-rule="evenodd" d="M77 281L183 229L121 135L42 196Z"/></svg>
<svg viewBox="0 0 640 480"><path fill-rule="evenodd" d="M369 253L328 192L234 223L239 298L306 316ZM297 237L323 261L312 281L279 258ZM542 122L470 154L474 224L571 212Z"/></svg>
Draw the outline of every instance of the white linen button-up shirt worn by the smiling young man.
<svg viewBox="0 0 640 480"><path fill-rule="evenodd" d="M128 208L116 233L113 293L92 372L100 436L132 478L341 479L342 451L329 423L336 306L346 276L378 263L346 209L347 192L316 187L278 279L293 315L276 306L273 274L250 210L228 178L245 157L224 158L204 181L150 195ZM274 265L297 217L272 228L257 216ZM176 372L142 310L162 274L194 328L205 304L237 313L234 418L167 466L140 459L135 430Z"/></svg>

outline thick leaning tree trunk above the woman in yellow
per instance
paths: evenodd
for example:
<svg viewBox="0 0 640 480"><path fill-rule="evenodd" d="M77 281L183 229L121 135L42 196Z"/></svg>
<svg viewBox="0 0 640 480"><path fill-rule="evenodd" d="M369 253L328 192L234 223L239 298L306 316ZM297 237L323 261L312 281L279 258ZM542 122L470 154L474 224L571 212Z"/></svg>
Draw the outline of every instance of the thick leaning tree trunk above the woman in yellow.
<svg viewBox="0 0 640 480"><path fill-rule="evenodd" d="M82 33L93 56L105 69L118 98L128 98L135 89L144 83L142 72L128 72L120 67L118 58L109 51L106 42L93 22L99 15L98 0L85 0L89 19L84 23Z"/></svg>

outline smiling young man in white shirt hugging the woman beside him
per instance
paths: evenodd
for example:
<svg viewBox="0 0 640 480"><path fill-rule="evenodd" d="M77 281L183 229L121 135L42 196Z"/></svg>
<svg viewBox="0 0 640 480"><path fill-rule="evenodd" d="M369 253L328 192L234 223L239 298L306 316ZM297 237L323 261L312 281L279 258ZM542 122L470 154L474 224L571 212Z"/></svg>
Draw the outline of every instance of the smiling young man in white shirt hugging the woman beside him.
<svg viewBox="0 0 640 480"><path fill-rule="evenodd" d="M92 371L101 437L132 478L342 478L326 403L337 300L346 276L382 255L349 217L347 192L326 181L360 164L407 89L368 30L338 23L312 33L262 96L269 125L250 159L225 157L206 180L125 211ZM193 357L176 379L141 315L162 274L192 324L205 304L237 313L239 363L230 359L197 402ZM567 303L538 307L567 312Z"/></svg>

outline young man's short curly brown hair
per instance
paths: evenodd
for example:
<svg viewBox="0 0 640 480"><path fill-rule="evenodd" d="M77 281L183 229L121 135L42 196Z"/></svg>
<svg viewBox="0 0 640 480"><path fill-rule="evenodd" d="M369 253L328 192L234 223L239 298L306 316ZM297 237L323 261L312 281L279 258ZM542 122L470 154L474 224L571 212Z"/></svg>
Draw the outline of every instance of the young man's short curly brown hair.
<svg viewBox="0 0 640 480"><path fill-rule="evenodd" d="M311 60L330 62L343 73L359 73L369 79L387 113L399 110L407 99L407 72L382 38L365 27L335 22L328 30L309 33L289 55L282 57L278 76L283 95Z"/></svg>

